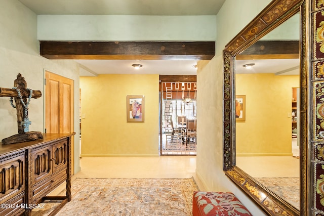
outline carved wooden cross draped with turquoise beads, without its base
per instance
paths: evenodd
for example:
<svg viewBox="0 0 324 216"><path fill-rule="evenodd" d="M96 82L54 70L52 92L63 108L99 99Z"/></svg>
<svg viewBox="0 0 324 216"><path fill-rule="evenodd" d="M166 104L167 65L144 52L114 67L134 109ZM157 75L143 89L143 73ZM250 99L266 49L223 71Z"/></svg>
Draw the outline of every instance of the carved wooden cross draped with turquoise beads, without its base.
<svg viewBox="0 0 324 216"><path fill-rule="evenodd" d="M15 99L15 106L12 101L11 104L17 109L17 123L18 123L18 134L25 134L29 132L29 125L31 121L28 118L28 110L24 106L27 105L27 98L31 94L31 98L42 97L41 91L28 91L27 82L25 78L18 73L17 79L14 81L13 89L0 88L0 97L11 97Z"/></svg>

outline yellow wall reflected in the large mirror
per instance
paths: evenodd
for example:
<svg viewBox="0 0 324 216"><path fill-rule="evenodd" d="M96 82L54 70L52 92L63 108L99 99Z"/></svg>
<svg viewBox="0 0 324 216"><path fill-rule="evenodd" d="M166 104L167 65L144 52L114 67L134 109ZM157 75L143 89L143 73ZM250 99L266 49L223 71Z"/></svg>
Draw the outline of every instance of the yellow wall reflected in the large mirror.
<svg viewBox="0 0 324 216"><path fill-rule="evenodd" d="M298 75L236 74L246 121L236 122L236 155L292 155L292 88Z"/></svg>

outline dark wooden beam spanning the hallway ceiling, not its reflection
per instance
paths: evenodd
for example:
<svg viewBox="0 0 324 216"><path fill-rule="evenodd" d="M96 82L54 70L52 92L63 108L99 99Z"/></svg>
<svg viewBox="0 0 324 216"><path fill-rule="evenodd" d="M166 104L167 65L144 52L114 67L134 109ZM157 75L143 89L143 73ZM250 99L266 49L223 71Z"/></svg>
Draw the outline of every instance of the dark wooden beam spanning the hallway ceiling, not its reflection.
<svg viewBox="0 0 324 216"><path fill-rule="evenodd" d="M40 41L48 59L211 60L215 41Z"/></svg>

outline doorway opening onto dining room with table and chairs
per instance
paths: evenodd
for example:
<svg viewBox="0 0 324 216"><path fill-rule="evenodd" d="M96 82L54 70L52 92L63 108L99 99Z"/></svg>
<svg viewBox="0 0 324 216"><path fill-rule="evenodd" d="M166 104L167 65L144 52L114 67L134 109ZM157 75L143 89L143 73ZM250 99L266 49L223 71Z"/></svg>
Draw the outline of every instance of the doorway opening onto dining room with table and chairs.
<svg viewBox="0 0 324 216"><path fill-rule="evenodd" d="M196 155L196 82L160 82L160 154Z"/></svg>

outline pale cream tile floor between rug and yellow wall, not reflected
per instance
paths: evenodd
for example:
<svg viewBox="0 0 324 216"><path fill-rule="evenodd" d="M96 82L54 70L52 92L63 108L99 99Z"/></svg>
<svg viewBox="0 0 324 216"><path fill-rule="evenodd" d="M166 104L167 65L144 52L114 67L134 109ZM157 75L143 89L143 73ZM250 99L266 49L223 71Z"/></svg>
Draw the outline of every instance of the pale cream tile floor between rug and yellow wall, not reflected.
<svg viewBox="0 0 324 216"><path fill-rule="evenodd" d="M75 178L191 178L199 190L206 190L195 174L196 156L83 157ZM50 195L65 188L59 186Z"/></svg>

